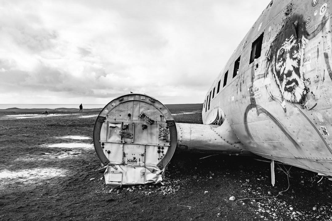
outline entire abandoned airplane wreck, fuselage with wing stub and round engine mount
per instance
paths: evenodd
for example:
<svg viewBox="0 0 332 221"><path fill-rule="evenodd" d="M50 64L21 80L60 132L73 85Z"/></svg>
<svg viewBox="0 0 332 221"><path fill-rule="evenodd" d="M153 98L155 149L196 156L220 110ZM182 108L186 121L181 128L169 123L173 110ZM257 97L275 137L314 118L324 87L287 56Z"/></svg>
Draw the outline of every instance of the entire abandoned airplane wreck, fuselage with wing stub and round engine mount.
<svg viewBox="0 0 332 221"><path fill-rule="evenodd" d="M159 183L176 148L258 155L331 178L331 5L271 1L207 91L204 124L176 123L145 94L112 100L93 133L106 183Z"/></svg>

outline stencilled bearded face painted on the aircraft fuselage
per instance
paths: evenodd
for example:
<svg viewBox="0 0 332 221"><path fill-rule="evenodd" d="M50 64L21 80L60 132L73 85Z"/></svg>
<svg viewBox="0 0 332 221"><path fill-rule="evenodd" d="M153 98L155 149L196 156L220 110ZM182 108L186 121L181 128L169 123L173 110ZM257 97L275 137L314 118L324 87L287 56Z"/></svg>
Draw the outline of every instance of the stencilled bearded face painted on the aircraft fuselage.
<svg viewBox="0 0 332 221"><path fill-rule="evenodd" d="M306 92L300 71L301 49L301 43L291 35L282 43L276 53L275 67L271 67L284 99L295 103L301 103Z"/></svg>

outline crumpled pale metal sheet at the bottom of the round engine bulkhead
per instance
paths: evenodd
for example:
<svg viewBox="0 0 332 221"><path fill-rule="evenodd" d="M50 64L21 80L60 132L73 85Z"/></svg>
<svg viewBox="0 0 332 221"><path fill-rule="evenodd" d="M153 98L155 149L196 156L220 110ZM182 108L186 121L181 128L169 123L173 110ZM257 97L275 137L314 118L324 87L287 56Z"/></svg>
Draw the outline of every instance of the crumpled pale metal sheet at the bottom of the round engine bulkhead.
<svg viewBox="0 0 332 221"><path fill-rule="evenodd" d="M127 165L107 166L105 183L112 186L160 183L163 180L165 168L137 167Z"/></svg>

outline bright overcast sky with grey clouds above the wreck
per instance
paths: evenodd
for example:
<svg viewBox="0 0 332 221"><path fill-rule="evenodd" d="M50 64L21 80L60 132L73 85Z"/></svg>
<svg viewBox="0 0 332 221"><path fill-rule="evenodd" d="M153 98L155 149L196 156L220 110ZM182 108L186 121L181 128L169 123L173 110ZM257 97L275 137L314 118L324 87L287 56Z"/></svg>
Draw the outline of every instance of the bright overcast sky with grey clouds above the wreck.
<svg viewBox="0 0 332 221"><path fill-rule="evenodd" d="M203 103L270 0L0 0L0 103Z"/></svg>

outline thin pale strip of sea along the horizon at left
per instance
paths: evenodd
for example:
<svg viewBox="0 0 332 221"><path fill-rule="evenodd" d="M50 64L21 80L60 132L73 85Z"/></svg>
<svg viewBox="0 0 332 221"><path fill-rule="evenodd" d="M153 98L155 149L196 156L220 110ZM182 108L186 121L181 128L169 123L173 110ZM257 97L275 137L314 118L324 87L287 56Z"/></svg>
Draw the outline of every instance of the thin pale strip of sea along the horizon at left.
<svg viewBox="0 0 332 221"><path fill-rule="evenodd" d="M104 108L106 104L82 104L83 109ZM0 109L20 108L20 109L57 109L57 108L77 108L80 104L0 104Z"/></svg>

